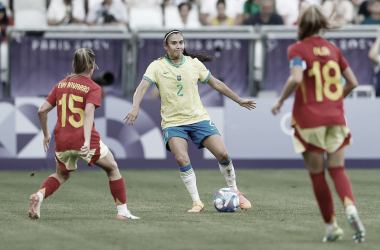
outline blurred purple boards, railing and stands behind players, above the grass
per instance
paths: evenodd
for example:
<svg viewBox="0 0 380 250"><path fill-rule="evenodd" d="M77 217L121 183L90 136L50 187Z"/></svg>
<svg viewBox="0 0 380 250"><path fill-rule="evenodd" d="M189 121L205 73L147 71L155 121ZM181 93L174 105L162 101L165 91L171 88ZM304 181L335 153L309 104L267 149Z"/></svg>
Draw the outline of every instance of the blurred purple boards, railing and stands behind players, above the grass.
<svg viewBox="0 0 380 250"><path fill-rule="evenodd" d="M298 9L307 1L227 0L225 13L234 18L230 26L227 22L212 25L224 17L220 11L218 14L217 5L221 1L216 0L0 2L0 12L6 13L8 21L8 25L2 25L1 43L0 170L55 168L54 140L47 154L44 153L36 112L52 87L72 71L72 55L80 47L96 53L99 70L94 78L103 85L104 98L95 123L120 168L174 167L175 161L162 143L160 100L154 86L145 96L135 126L125 126L122 119L131 108L131 97L149 63L165 55L162 46L165 32L176 27L181 28L188 51L206 51L215 57L215 61L206 63L215 77L237 94L257 100L256 110L245 111L208 85L199 85L203 104L221 131L236 166L303 167L300 155L292 149L289 125L292 101L286 102L278 117L270 114L270 107L288 77L286 49L296 41ZM244 13L248 2L252 6L257 4L257 14ZM325 10L329 1L311 2L321 4ZM375 89L379 74L368 58L368 51L379 35L379 25L356 24L361 15L359 7L345 2L352 5L352 19L333 20L343 27L327 32L325 37L343 51L360 83L345 100L354 138L354 145L347 148L346 165L377 168L380 99L376 98ZM108 4L108 9L102 9ZM179 11L183 5L192 6L187 26L183 23L184 14ZM122 9L121 14L113 12L112 6ZM334 8L339 16L339 6ZM284 24L247 23L252 16L278 15L276 12L281 14ZM51 132L54 124L55 114L51 112ZM215 165L208 151L196 150L191 143L190 156L197 168Z"/></svg>

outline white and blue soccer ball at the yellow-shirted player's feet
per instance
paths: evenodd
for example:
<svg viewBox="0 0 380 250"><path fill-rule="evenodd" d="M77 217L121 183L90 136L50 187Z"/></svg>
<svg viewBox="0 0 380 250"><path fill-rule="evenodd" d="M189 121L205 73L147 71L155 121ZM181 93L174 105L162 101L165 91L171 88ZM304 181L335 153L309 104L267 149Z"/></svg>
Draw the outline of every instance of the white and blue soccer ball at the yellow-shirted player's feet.
<svg viewBox="0 0 380 250"><path fill-rule="evenodd" d="M239 195L231 188L219 189L214 195L214 207L219 212L235 212L239 203Z"/></svg>

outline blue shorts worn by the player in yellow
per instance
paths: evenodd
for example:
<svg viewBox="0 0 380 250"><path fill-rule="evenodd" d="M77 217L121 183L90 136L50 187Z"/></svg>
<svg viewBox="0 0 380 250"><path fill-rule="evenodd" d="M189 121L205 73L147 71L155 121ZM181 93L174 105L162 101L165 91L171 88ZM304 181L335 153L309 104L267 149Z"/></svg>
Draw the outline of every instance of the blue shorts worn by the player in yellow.
<svg viewBox="0 0 380 250"><path fill-rule="evenodd" d="M162 131L166 149L170 151L168 141L172 137L181 137L188 140L189 136L197 148L204 148L202 140L210 135L219 134L218 129L210 120L201 121L189 125L165 128Z"/></svg>

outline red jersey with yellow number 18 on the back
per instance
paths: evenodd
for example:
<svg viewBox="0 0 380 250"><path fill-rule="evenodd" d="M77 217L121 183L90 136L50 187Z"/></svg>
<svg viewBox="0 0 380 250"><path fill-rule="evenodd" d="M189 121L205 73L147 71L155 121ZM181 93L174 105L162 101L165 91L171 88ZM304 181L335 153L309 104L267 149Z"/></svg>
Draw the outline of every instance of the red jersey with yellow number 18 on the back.
<svg viewBox="0 0 380 250"><path fill-rule="evenodd" d="M342 51L322 37L311 37L288 47L288 59L294 58L302 60L304 72L295 93L292 125L346 125L341 72L349 65Z"/></svg>

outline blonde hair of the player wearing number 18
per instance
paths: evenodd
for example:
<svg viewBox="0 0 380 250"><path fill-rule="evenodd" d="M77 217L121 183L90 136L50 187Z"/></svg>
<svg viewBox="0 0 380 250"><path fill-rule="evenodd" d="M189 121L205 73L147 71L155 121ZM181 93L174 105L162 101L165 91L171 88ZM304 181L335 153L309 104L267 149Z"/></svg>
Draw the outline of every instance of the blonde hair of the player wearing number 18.
<svg viewBox="0 0 380 250"><path fill-rule="evenodd" d="M305 5L298 17L298 40L303 40L318 34L321 30L338 29L332 26L323 15L322 9L317 5Z"/></svg>

